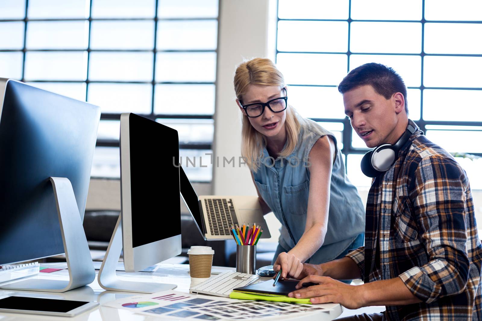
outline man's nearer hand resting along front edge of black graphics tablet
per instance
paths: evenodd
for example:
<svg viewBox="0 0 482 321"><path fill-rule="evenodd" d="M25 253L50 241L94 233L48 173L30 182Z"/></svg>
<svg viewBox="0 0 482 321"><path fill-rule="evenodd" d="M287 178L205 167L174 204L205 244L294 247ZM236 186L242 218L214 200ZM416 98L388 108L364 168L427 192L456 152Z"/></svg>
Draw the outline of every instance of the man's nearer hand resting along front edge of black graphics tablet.
<svg viewBox="0 0 482 321"><path fill-rule="evenodd" d="M318 285L302 288L302 284L305 282L318 283ZM298 282L296 288L299 290L289 293L289 297L300 299L309 297L313 304L333 302L349 309L363 307L363 289L361 286L348 285L330 277L309 275Z"/></svg>

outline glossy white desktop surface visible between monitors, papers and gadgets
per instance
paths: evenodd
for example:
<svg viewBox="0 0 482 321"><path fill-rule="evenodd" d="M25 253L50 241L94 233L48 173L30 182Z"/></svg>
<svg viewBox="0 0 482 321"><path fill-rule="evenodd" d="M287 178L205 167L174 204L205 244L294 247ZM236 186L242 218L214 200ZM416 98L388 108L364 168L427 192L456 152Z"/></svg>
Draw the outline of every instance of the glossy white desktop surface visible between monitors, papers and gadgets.
<svg viewBox="0 0 482 321"><path fill-rule="evenodd" d="M43 263L41 266L48 266L51 268L66 268L66 263ZM213 267L215 270L234 270L233 268ZM117 271L117 275L127 281L140 281L146 282L152 280L154 282L174 283L177 284L175 291L189 293L189 286L191 284L191 278L188 274L189 266L187 264L161 264L160 267L154 272L136 272L126 273L124 271ZM98 270L95 270L96 274ZM60 270L52 273L39 273L39 275L33 278L42 279L58 279L68 278L67 270ZM78 301L90 301L97 302L100 305L108 301L120 299L123 297L129 297L132 295L139 295L138 293L127 292L112 292L102 289L97 283L97 276L91 284L83 286L74 290L70 290L64 293L50 293L50 292L33 292L33 291L4 291L0 290L0 295L11 294L19 296L34 296L53 299L66 299L66 300L78 300ZM314 315L309 320L314 321L329 321L338 317L342 313L342 307L337 306L330 312L320 312ZM12 314L12 313L0 313L0 321L34 321L34 320L55 320L55 321L157 321L162 320L161 317L154 318L141 314L135 314L130 310L116 309L109 307L98 306L94 309L86 311L74 318L62 318L51 316L38 316L28 314ZM283 318L284 320L284 318ZM286 320L301 320L301 318L289 318ZM303 321L309 321L304 317Z"/></svg>

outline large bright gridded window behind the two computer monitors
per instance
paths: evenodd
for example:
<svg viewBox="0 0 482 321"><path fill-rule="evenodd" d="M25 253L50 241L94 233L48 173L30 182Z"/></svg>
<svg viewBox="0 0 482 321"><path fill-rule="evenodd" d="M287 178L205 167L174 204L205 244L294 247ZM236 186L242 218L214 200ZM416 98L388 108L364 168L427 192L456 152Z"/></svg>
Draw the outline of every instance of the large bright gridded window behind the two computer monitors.
<svg viewBox="0 0 482 321"><path fill-rule="evenodd" d="M101 107L93 177L120 175L124 112L177 129L181 156L199 157L212 153L217 16L218 0L0 1L0 77Z"/></svg>

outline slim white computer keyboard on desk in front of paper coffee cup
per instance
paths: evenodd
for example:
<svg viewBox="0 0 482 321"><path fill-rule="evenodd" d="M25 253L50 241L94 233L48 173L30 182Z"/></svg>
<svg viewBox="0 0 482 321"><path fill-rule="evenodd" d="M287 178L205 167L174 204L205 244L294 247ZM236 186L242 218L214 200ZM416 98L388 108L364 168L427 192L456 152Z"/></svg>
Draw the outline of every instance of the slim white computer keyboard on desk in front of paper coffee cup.
<svg viewBox="0 0 482 321"><path fill-rule="evenodd" d="M195 285L189 289L189 293L229 297L234 288L248 285L257 279L259 279L259 276L253 274L224 272Z"/></svg>

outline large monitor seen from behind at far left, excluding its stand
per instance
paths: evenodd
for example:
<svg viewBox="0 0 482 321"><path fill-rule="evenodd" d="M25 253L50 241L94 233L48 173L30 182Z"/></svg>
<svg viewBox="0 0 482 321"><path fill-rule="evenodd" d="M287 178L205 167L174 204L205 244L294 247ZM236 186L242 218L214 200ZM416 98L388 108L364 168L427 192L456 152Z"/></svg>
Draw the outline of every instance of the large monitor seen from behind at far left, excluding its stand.
<svg viewBox="0 0 482 321"><path fill-rule="evenodd" d="M99 119L97 106L0 78L0 265L65 253L50 177L70 181L82 228Z"/></svg>

